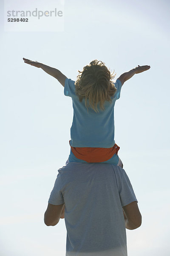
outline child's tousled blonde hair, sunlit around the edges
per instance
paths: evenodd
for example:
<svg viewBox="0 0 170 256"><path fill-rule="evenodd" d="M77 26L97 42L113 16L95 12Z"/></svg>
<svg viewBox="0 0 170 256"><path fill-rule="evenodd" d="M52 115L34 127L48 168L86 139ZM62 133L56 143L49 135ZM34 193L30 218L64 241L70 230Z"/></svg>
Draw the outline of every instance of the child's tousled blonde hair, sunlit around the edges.
<svg viewBox="0 0 170 256"><path fill-rule="evenodd" d="M99 112L98 103L100 109L105 110L105 101L111 102L111 97L116 92L116 87L111 81L116 76L113 73L111 74L104 62L98 60L91 61L89 65L83 67L82 71L79 71L75 90L80 102L85 99L87 109L90 106L95 112Z"/></svg>

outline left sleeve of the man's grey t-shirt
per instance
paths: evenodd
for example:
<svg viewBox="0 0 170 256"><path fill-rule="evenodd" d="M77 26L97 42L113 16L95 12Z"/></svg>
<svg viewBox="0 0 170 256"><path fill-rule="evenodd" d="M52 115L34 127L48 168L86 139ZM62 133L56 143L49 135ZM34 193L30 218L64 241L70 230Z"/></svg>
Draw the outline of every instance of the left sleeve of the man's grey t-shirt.
<svg viewBox="0 0 170 256"><path fill-rule="evenodd" d="M64 204L64 198L62 196L62 180L60 175L57 175L57 179L54 183L54 188L51 191L50 198L48 200L49 204L53 205L59 205L59 204Z"/></svg>

